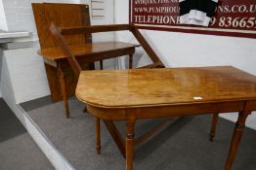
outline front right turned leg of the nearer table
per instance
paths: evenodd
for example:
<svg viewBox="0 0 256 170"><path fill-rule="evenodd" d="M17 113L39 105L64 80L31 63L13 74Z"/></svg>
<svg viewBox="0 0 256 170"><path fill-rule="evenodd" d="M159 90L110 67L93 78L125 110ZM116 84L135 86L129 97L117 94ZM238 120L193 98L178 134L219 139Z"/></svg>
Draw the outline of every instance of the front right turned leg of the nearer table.
<svg viewBox="0 0 256 170"><path fill-rule="evenodd" d="M233 138L232 138L232 142L231 142L230 152L227 157L225 170L232 169L232 165L233 165L233 162L235 159L235 153L237 151L239 142L241 140L242 132L243 132L243 129L245 126L245 121L246 121L248 115L250 115L250 113L246 113L246 112L239 113L239 117L235 124L235 130L234 130L234 134L233 134Z"/></svg>

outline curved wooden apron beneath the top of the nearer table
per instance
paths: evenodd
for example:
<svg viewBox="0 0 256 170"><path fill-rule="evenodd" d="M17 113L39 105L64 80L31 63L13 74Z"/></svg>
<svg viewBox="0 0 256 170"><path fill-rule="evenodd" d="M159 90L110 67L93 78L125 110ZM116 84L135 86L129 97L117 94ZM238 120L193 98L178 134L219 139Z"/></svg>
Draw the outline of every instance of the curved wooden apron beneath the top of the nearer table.
<svg viewBox="0 0 256 170"><path fill-rule="evenodd" d="M136 119L153 119L163 117L181 117L190 115L206 115L213 113L231 113L244 111L245 101L218 102L218 103L197 103L197 104L182 104L171 106L149 106L149 107L134 107L134 108L102 108L88 105L88 111L100 118L109 120L124 120L127 119L127 113L135 115ZM251 105L254 102L247 102ZM255 107L255 105L254 105Z"/></svg>

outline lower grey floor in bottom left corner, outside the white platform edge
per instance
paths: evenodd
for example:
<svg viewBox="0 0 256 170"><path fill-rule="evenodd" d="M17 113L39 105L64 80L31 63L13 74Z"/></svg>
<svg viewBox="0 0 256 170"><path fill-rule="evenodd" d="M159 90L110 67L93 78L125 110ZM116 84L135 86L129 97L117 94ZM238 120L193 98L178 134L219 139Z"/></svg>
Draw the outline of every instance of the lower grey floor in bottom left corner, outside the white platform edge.
<svg viewBox="0 0 256 170"><path fill-rule="evenodd" d="M0 170L51 170L54 167L0 99Z"/></svg>

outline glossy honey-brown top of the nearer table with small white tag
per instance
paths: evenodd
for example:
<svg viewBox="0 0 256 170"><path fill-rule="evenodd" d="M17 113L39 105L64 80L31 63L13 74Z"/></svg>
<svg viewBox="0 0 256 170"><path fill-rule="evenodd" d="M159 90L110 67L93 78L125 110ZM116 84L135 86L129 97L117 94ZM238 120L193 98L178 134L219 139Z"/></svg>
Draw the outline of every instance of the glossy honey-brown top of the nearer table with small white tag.
<svg viewBox="0 0 256 170"><path fill-rule="evenodd" d="M232 66L82 71L76 96L102 108L256 100L256 77Z"/></svg>

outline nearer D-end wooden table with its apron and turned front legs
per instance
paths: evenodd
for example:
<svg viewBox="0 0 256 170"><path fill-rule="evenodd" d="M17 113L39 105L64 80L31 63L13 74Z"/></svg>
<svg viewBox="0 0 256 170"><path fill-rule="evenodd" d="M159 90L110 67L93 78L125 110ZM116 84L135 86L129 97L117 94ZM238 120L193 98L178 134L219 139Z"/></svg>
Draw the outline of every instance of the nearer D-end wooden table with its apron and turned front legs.
<svg viewBox="0 0 256 170"><path fill-rule="evenodd" d="M232 66L83 71L76 96L92 115L112 125L126 170L133 169L138 119L239 112L224 168L231 170L245 120L256 110L256 77ZM126 121L125 140L114 120Z"/></svg>

